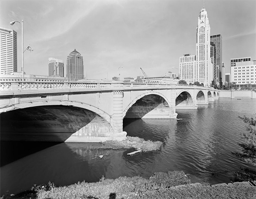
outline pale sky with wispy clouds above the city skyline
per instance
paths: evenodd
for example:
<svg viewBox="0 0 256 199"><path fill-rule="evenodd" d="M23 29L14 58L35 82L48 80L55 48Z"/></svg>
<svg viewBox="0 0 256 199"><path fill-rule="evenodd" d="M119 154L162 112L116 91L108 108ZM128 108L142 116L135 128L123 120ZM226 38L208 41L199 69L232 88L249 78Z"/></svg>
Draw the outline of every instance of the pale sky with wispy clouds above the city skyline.
<svg viewBox="0 0 256 199"><path fill-rule="evenodd" d="M23 20L26 74L48 75L48 58L64 62L74 49L84 76L112 80L178 74L179 58L195 55L196 27L205 7L211 35L222 36L222 61L256 60L256 0L0 0L0 26L17 32L21 71ZM119 68L121 67L122 68ZM119 68L119 69L118 69Z"/></svg>

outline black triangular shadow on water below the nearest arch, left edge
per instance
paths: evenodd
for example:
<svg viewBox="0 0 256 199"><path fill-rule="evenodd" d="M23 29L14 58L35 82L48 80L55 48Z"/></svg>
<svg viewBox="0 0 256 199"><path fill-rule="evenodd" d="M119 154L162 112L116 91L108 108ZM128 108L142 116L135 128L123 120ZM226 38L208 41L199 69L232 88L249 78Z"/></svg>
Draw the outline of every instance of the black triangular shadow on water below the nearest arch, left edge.
<svg viewBox="0 0 256 199"><path fill-rule="evenodd" d="M0 167L61 142L0 142Z"/></svg>

